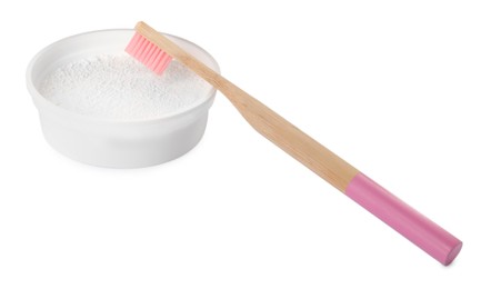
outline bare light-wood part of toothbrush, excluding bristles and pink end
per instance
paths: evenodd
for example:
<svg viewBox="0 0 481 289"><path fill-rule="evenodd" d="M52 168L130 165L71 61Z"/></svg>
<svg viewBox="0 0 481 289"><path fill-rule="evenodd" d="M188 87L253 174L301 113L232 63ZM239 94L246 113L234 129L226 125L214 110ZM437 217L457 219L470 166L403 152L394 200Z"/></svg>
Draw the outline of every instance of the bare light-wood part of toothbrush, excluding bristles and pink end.
<svg viewBox="0 0 481 289"><path fill-rule="evenodd" d="M220 90L259 133L340 191L344 192L349 182L359 172L347 161L197 60L153 28L139 22L136 30Z"/></svg>

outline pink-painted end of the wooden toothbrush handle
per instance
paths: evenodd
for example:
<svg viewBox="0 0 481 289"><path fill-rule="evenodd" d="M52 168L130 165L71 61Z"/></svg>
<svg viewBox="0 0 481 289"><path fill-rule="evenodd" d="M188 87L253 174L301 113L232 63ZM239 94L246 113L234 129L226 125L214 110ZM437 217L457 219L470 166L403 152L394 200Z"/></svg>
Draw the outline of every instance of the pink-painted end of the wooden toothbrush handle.
<svg viewBox="0 0 481 289"><path fill-rule="evenodd" d="M361 172L351 180L345 195L444 266L461 251L458 238Z"/></svg>

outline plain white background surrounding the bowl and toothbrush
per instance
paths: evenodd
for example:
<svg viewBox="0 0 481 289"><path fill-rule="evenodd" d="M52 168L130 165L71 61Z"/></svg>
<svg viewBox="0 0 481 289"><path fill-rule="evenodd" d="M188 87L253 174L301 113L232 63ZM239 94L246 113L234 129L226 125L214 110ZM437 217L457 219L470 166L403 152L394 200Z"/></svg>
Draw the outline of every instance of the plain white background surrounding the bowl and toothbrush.
<svg viewBox="0 0 481 289"><path fill-rule="evenodd" d="M3 1L0 288L480 288L479 1ZM218 94L146 169L51 149L28 61L144 20L464 241L443 267L257 134Z"/></svg>

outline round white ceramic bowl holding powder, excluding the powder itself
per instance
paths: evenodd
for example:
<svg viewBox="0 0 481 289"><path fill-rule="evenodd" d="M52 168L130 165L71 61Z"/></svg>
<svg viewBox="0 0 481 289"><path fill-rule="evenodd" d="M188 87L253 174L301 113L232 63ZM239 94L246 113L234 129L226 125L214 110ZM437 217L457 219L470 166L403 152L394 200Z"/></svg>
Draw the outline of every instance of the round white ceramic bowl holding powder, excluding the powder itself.
<svg viewBox="0 0 481 289"><path fill-rule="evenodd" d="M78 59L123 51L134 31L102 30L72 36L41 50L27 69L27 88L39 110L43 136L58 151L99 167L139 168L176 159L192 149L206 130L216 90L192 106L151 120L112 120L80 114L61 108L39 92L47 73ZM219 71L202 48L168 36L188 52Z"/></svg>

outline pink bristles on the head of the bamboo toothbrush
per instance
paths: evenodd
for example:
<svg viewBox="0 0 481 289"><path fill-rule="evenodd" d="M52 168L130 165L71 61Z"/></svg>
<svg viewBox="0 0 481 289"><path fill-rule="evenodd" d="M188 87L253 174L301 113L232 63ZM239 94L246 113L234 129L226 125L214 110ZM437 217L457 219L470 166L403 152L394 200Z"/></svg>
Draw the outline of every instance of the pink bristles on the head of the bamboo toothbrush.
<svg viewBox="0 0 481 289"><path fill-rule="evenodd" d="M132 40L130 40L130 43L126 48L126 52L142 62L157 74L162 74L172 60L168 53L163 52L154 43L150 42L138 32L136 32Z"/></svg>

